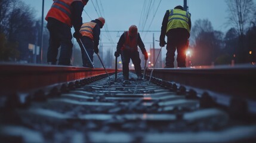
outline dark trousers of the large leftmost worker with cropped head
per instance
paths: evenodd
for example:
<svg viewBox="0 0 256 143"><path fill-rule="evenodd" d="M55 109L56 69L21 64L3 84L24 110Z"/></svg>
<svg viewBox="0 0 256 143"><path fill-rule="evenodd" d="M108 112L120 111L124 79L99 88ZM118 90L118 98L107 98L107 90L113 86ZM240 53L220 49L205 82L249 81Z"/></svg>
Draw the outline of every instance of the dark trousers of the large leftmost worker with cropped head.
<svg viewBox="0 0 256 143"><path fill-rule="evenodd" d="M54 18L48 18L47 29L50 33L47 62L57 62L58 48L61 46L58 64L70 66L73 47L70 27Z"/></svg>

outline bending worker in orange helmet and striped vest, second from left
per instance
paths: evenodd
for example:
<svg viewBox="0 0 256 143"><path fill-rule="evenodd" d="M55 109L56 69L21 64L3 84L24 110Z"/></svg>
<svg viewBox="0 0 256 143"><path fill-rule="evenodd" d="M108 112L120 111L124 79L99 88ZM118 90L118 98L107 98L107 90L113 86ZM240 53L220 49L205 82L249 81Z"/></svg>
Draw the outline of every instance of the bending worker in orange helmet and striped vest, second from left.
<svg viewBox="0 0 256 143"><path fill-rule="evenodd" d="M84 46L82 46L81 42L79 42L79 39L78 38L77 39L82 52L83 67L91 67L91 68L93 67L92 66L93 52L95 52L95 54L98 54L98 43L100 41L100 29L104 26L104 23L105 23L105 19L103 17L99 17L88 23L84 23L81 26L81 29L80 29L80 33L82 36L81 41Z"/></svg>

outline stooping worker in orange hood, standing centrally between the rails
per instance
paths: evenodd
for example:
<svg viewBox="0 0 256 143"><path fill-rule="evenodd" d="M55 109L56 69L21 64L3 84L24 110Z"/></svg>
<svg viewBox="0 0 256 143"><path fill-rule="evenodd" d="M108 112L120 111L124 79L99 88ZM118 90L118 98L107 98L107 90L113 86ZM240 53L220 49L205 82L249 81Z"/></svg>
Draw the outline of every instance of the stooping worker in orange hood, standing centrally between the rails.
<svg viewBox="0 0 256 143"><path fill-rule="evenodd" d="M134 69L138 76L138 80L142 79L140 66L141 61L138 52L138 46L140 47L141 52L144 54L145 60L147 60L147 51L145 49L144 43L140 38L140 33L138 33L137 26L132 25L131 27L129 27L129 31L126 31L121 35L115 52L115 57L119 57L119 55L121 54L124 80L129 80L130 59L134 64Z"/></svg>

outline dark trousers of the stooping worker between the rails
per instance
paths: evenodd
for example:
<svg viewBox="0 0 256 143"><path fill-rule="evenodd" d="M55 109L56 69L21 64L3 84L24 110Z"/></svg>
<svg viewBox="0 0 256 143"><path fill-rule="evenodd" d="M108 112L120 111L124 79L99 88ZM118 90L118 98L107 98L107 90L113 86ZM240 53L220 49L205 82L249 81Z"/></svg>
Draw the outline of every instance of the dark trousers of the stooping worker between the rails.
<svg viewBox="0 0 256 143"><path fill-rule="evenodd" d="M129 77L129 61L131 59L132 63L134 64L134 69L137 76L141 76L141 66L140 66L140 54L138 51L129 51L129 50L122 50L121 51L121 58L123 63L123 76L125 78Z"/></svg>

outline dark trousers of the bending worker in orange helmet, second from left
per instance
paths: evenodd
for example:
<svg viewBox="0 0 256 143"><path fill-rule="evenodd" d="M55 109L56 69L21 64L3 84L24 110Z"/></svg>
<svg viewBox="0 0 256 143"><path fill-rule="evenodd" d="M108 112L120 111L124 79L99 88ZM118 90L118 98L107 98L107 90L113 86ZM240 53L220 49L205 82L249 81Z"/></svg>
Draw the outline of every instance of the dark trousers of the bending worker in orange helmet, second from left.
<svg viewBox="0 0 256 143"><path fill-rule="evenodd" d="M84 47L91 59L88 58L88 55L85 52L85 49L83 48L82 45L80 45L81 52L82 52L82 61L83 61L83 66L84 67L93 67L91 62L93 61L93 41L91 38L88 38L87 36L82 36L81 38L82 43L84 44ZM80 42L78 42L80 44Z"/></svg>

